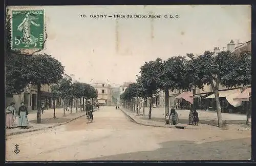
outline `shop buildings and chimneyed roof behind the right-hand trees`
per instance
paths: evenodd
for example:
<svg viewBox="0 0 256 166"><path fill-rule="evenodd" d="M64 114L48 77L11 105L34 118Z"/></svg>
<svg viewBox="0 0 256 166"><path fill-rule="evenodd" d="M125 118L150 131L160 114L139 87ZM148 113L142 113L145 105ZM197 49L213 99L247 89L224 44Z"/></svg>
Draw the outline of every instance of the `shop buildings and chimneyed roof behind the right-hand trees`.
<svg viewBox="0 0 256 166"><path fill-rule="evenodd" d="M223 50L226 47L223 47ZM236 47L236 44L231 40L227 44L227 50L238 52L241 50L251 51L251 41L243 43ZM222 51L219 47L214 48L214 52ZM250 86L247 86L250 87ZM226 88L219 85L220 104L223 112L240 111L243 109L243 103L234 102L233 98L237 94L242 93L247 87ZM185 96L182 94L186 94ZM192 98L192 99L191 99ZM159 100L158 100L159 99ZM153 106L163 107L165 104L164 91L160 90L159 94L153 96ZM181 90L169 90L169 106L175 106L177 109L189 109L190 104L194 103L197 109L216 109L215 95L210 85L204 85L203 89L195 89L194 91L184 92ZM146 105L149 106L150 100L147 99ZM240 105L241 104L241 105Z"/></svg>

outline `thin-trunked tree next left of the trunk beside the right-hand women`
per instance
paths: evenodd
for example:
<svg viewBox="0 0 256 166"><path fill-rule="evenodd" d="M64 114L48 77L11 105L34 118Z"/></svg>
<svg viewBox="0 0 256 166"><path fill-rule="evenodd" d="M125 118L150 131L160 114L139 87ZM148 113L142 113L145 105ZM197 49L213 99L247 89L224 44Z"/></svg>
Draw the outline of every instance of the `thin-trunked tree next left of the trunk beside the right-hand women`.
<svg viewBox="0 0 256 166"><path fill-rule="evenodd" d="M145 62L145 64L140 67L142 87L147 90L147 96L150 97L150 112L148 113L148 119L151 119L153 94L157 93L157 80L159 79L158 72L160 63L161 59L158 58L156 61Z"/></svg>

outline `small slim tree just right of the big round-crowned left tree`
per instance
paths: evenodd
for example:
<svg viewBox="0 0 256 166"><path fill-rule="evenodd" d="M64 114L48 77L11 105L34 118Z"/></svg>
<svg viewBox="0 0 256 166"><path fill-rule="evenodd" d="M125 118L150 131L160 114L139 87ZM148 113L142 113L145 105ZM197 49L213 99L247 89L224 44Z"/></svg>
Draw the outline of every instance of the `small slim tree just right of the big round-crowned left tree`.
<svg viewBox="0 0 256 166"><path fill-rule="evenodd" d="M71 99L71 95L72 95L71 84L72 84L71 80L67 78L62 78L59 81L58 89L59 89L60 97L64 99L63 116L66 116L65 108L68 106L69 101Z"/></svg>

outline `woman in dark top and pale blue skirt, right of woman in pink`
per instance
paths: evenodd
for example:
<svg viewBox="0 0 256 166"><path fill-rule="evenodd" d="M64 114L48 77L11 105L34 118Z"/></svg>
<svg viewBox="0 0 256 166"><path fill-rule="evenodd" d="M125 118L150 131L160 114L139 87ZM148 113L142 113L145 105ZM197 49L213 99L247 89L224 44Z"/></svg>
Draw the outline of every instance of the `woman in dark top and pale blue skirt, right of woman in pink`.
<svg viewBox="0 0 256 166"><path fill-rule="evenodd" d="M28 109L25 106L24 102L20 103L20 107L18 109L18 127L27 128L28 127Z"/></svg>

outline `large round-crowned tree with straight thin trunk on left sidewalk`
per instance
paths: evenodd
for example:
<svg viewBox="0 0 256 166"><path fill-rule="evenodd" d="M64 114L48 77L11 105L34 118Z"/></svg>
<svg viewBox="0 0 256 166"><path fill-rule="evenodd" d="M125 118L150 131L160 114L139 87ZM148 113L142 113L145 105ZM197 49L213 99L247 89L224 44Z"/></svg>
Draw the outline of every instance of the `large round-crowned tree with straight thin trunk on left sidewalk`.
<svg viewBox="0 0 256 166"><path fill-rule="evenodd" d="M48 54L30 56L28 72L24 75L28 83L37 86L37 123L41 122L41 85L57 84L62 78L64 67Z"/></svg>

